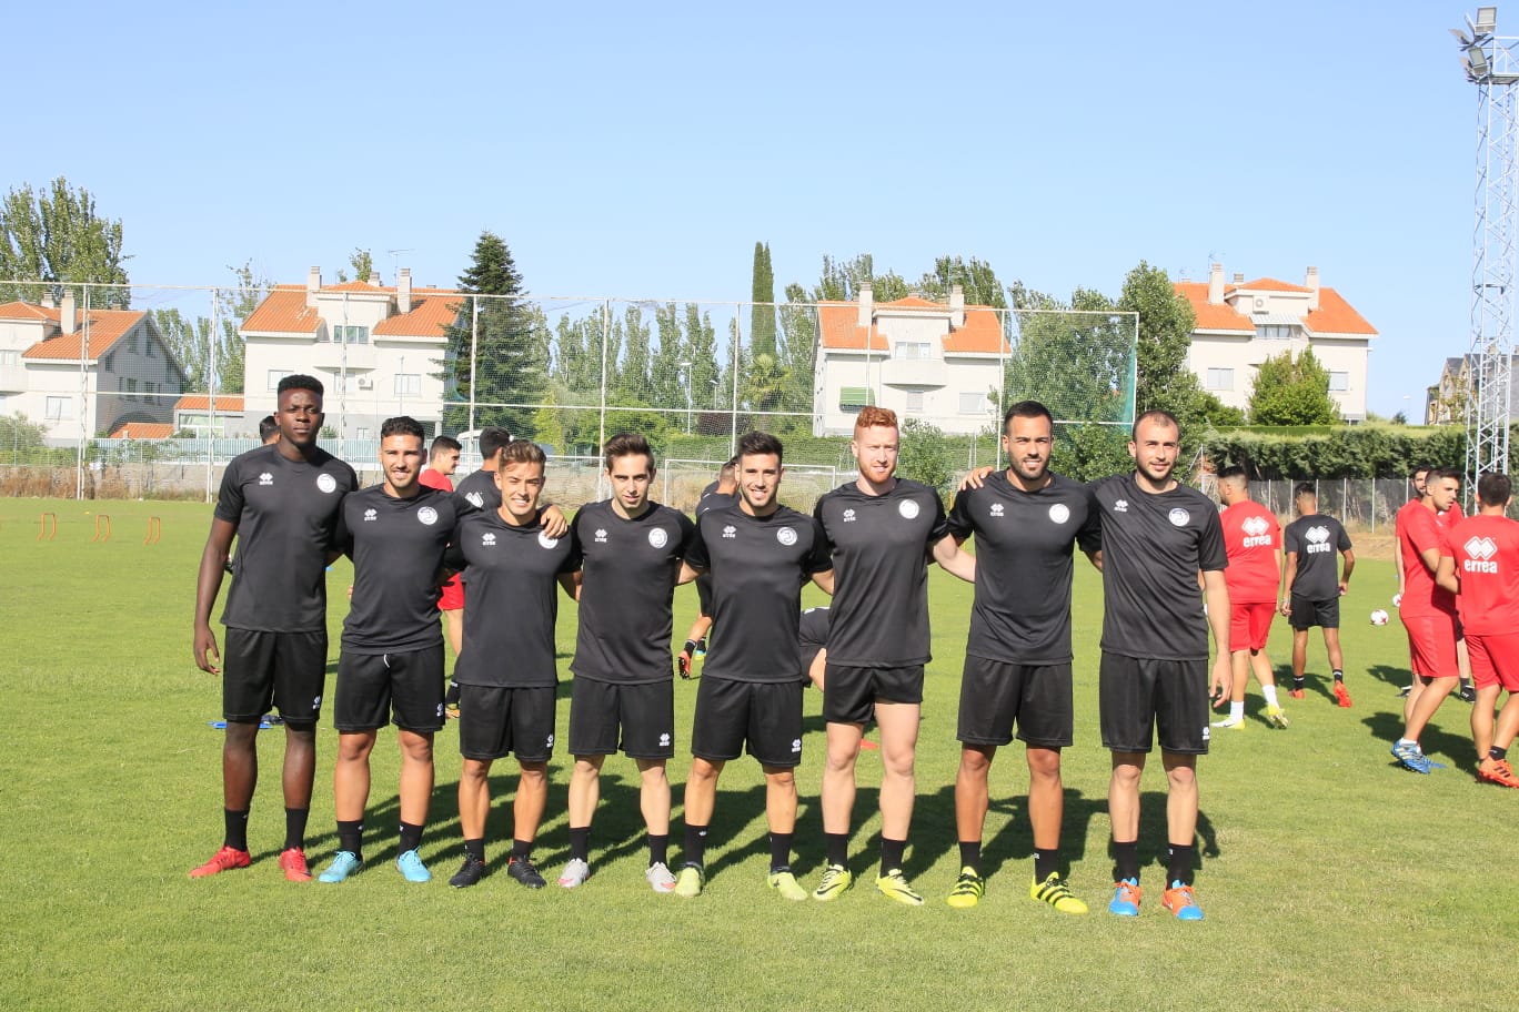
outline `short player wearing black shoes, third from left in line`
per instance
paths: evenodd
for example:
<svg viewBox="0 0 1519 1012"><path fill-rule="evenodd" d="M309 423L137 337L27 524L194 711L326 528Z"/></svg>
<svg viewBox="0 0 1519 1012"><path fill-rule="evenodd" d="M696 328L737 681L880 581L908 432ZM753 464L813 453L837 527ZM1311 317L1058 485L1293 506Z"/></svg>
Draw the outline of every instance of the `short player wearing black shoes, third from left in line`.
<svg viewBox="0 0 1519 1012"><path fill-rule="evenodd" d="M533 865L533 841L548 798L554 750L554 584L574 596L579 554L573 539L553 537L538 496L547 460L536 443L504 446L495 482L501 505L465 516L448 549L448 567L465 569L465 648L454 666L459 684L459 828L465 863L454 888L485 874L485 824L491 812L491 763L516 754L512 853L506 874L530 889L547 883ZM510 616L503 621L503 616Z"/></svg>

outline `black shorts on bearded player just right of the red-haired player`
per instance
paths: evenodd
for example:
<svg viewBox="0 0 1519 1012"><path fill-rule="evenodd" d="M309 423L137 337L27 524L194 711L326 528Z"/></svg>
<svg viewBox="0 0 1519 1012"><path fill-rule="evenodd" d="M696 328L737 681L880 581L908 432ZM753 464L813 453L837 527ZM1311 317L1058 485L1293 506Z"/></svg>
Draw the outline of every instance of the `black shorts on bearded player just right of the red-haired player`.
<svg viewBox="0 0 1519 1012"><path fill-rule="evenodd" d="M966 654L960 740L1007 745L1015 722L1018 739L1036 748L1072 742L1071 665L1010 665Z"/></svg>

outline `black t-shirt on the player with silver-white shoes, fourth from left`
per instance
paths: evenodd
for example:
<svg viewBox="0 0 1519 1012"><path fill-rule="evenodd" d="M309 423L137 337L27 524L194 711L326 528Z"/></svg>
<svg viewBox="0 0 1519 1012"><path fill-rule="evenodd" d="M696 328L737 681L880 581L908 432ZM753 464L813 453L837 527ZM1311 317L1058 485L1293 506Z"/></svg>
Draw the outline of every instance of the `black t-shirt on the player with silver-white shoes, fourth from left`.
<svg viewBox="0 0 1519 1012"><path fill-rule="evenodd" d="M594 681L670 681L670 608L696 525L658 502L629 520L608 501L583 507L571 528L583 577L570 671Z"/></svg>

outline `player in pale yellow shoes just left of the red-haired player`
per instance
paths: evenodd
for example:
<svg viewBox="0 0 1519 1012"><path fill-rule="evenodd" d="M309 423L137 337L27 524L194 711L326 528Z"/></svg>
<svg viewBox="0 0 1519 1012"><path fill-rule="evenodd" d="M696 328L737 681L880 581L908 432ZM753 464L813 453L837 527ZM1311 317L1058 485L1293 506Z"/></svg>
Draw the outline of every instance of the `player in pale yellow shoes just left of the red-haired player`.
<svg viewBox="0 0 1519 1012"><path fill-rule="evenodd" d="M807 891L791 872L796 765L802 762L802 584L832 592L832 563L817 523L781 505L781 440L747 432L738 440L738 504L708 510L681 566L681 581L712 574L712 619L723 625L696 692L691 772L685 781L685 863L674 892L699 897L706 883L706 831L717 778L744 748L760 762L770 827L767 883L787 900Z"/></svg>

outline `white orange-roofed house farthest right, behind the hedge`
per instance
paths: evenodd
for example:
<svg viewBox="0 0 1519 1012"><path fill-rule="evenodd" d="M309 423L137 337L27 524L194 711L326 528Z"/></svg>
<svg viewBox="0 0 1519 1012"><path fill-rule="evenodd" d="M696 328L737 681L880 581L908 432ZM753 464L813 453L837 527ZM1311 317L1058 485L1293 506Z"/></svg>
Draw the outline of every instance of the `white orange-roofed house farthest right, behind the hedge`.
<svg viewBox="0 0 1519 1012"><path fill-rule="evenodd" d="M1340 417L1366 420L1367 360L1376 328L1318 282L1317 267L1308 269L1300 285L1274 278L1246 281L1244 275L1226 284L1223 266L1214 264L1206 284L1182 281L1176 291L1197 316L1186 364L1203 390L1243 410L1261 363L1311 347L1329 370L1329 396Z"/></svg>

